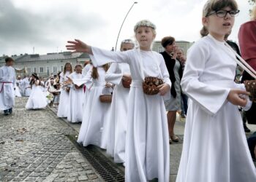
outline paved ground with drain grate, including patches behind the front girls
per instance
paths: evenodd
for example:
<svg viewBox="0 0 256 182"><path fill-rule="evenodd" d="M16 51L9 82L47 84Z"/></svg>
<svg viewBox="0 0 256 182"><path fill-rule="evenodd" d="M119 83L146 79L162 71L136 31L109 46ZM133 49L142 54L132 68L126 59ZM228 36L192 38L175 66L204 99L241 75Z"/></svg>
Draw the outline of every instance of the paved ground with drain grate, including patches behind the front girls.
<svg viewBox="0 0 256 182"><path fill-rule="evenodd" d="M124 181L124 167L114 164L105 150L85 149L72 140L80 124L59 119L55 108L27 111L26 100L16 98L12 115L0 114L0 181L113 181L110 175ZM177 117L175 132L181 141L170 145L170 181L176 181L184 125Z"/></svg>

